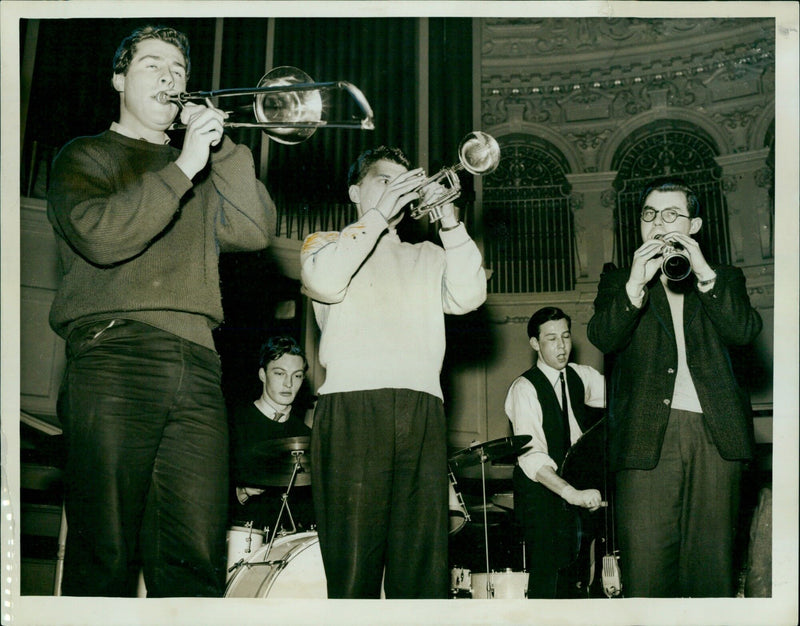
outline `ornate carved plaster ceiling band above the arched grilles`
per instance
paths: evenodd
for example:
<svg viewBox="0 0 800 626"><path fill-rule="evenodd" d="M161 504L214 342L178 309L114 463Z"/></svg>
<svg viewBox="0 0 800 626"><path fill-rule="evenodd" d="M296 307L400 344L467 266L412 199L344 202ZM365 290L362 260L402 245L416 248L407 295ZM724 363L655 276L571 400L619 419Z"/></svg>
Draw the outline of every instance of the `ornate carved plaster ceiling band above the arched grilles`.
<svg viewBox="0 0 800 626"><path fill-rule="evenodd" d="M757 149L754 127L763 135L774 117L774 29L772 19L485 19L482 123L546 127L578 171L596 171L602 145L648 114L704 126L721 152Z"/></svg>

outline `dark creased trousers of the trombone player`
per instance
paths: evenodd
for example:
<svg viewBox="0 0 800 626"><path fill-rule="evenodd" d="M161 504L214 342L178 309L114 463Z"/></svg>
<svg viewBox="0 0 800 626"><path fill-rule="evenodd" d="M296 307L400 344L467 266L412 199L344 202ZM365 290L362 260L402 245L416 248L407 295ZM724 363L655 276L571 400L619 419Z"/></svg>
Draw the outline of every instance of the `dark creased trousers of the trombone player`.
<svg viewBox="0 0 800 626"><path fill-rule="evenodd" d="M67 443L63 593L220 596L228 429L217 354L146 324L80 327L58 414Z"/></svg>

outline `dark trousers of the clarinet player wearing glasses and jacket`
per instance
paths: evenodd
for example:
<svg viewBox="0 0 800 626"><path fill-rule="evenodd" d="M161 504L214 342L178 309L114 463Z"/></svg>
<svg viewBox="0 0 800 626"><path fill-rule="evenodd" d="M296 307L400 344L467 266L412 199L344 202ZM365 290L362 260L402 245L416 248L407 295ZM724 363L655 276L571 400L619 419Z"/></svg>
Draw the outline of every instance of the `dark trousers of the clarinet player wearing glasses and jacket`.
<svg viewBox="0 0 800 626"><path fill-rule="evenodd" d="M717 452L700 413L673 410L658 465L616 476L623 592L730 597L741 462Z"/></svg>

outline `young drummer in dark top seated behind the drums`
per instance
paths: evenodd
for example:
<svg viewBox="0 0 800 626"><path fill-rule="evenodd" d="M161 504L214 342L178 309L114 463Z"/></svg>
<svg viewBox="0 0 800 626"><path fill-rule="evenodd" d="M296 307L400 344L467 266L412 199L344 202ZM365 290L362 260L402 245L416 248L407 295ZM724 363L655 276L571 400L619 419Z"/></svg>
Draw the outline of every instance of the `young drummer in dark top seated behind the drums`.
<svg viewBox="0 0 800 626"><path fill-rule="evenodd" d="M230 409L231 480L235 496L231 501L230 518L233 526L251 522L255 529L272 529L278 519L282 495L291 478L293 457L288 449L265 455L264 444L311 436L311 428L304 418L314 397L310 394L298 397L307 369L308 361L297 341L289 336L271 337L261 346L258 368L261 395L255 401L235 404ZM284 462L276 463L281 459L275 454L281 455ZM305 456L307 460L308 452ZM276 467L281 474L275 474ZM297 530L308 530L313 520L310 490L298 486L300 482L308 485L308 476L304 478L305 481L295 478L288 498ZM280 525L291 528L286 511Z"/></svg>

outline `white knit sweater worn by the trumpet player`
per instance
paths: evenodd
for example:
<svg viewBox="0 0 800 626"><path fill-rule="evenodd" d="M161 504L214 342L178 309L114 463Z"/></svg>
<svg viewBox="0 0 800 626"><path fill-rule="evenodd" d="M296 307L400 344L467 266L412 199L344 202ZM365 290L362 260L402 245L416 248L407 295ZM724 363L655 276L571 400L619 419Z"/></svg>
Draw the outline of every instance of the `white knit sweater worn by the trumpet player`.
<svg viewBox="0 0 800 626"><path fill-rule="evenodd" d="M392 388L442 398L444 314L486 300L481 254L463 225L440 233L444 248L403 243L387 227L372 209L303 243L303 290L322 331L320 394Z"/></svg>

